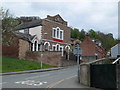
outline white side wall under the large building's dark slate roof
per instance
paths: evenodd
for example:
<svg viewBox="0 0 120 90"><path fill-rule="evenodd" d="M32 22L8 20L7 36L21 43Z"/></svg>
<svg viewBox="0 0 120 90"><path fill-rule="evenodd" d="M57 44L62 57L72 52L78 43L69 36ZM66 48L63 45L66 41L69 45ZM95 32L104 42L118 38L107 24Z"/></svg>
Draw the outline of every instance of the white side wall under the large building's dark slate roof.
<svg viewBox="0 0 120 90"><path fill-rule="evenodd" d="M29 34L37 35L38 39L40 40L41 39L41 30L42 30L42 26L29 28Z"/></svg>

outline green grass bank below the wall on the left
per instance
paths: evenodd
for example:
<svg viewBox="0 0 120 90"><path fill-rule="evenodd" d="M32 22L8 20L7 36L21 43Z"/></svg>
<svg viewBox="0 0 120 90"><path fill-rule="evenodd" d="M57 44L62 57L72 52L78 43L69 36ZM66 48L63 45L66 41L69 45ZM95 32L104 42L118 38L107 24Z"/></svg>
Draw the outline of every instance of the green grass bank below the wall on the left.
<svg viewBox="0 0 120 90"><path fill-rule="evenodd" d="M0 70L0 73L40 69L40 63L29 60L20 60L16 58L2 57L0 63L1 62L2 62L2 70ZM54 67L56 66L43 64L43 69L54 68Z"/></svg>

